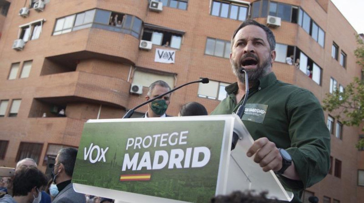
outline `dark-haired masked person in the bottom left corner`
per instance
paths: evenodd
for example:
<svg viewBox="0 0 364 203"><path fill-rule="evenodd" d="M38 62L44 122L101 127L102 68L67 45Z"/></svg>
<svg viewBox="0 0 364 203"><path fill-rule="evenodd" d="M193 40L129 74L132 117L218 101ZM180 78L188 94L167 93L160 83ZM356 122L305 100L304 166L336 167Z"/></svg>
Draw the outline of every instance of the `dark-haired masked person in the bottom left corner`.
<svg viewBox="0 0 364 203"><path fill-rule="evenodd" d="M12 195L5 195L0 203L39 203L41 187L47 184L47 177L35 166L20 166L12 180Z"/></svg>

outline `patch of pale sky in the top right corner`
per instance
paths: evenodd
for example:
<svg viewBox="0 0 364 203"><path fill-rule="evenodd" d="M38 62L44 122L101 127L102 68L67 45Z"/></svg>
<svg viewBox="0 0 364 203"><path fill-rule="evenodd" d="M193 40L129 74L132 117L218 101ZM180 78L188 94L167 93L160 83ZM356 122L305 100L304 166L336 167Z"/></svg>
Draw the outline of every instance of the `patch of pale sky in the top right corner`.
<svg viewBox="0 0 364 203"><path fill-rule="evenodd" d="M364 33L364 0L331 0L337 9L353 26L355 31Z"/></svg>

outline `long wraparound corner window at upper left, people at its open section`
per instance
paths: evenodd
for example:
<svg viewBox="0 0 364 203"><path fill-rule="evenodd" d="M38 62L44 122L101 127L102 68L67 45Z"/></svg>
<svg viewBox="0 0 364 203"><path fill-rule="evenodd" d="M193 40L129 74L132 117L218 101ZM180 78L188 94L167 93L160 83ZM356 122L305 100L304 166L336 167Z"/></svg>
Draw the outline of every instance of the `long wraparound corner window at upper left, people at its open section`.
<svg viewBox="0 0 364 203"><path fill-rule="evenodd" d="M123 13L92 9L57 19L53 35L90 27L122 32L139 39L142 20Z"/></svg>

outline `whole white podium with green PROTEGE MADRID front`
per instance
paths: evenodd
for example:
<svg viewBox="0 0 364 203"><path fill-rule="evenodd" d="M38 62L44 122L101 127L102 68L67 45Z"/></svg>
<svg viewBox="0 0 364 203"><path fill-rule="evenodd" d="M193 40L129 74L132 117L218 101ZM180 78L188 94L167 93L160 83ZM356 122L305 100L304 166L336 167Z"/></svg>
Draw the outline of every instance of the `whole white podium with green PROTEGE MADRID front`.
<svg viewBox="0 0 364 203"><path fill-rule="evenodd" d="M231 149L232 134L239 140ZM290 201L273 171L246 156L253 139L237 115L91 119L72 183L117 202L210 202L233 191L268 191Z"/></svg>

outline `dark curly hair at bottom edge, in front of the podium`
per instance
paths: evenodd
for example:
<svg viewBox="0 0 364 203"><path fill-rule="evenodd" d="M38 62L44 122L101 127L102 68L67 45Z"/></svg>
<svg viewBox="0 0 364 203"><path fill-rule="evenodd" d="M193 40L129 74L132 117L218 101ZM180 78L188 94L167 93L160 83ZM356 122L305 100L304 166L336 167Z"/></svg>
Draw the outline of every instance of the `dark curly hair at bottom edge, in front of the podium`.
<svg viewBox="0 0 364 203"><path fill-rule="evenodd" d="M254 191L235 191L230 195L218 195L211 199L211 203L278 203L277 199L268 199L264 191L254 194Z"/></svg>

